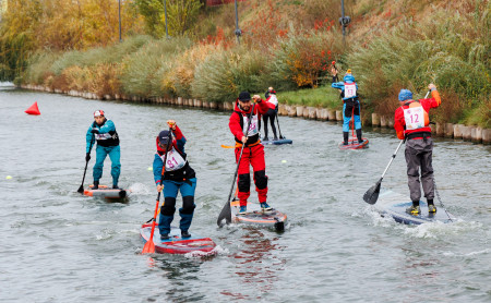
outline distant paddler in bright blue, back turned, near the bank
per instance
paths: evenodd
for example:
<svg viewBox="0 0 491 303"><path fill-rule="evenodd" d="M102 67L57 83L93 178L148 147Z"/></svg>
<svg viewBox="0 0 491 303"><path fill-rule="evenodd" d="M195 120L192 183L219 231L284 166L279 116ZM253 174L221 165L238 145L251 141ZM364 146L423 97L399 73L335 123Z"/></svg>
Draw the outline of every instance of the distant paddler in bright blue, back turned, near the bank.
<svg viewBox="0 0 491 303"><path fill-rule="evenodd" d="M363 143L361 137L361 119L360 119L360 101L358 99L358 84L351 74L351 70L346 72L343 78L344 82L335 82L331 84L332 87L340 90L343 98L343 140L344 145L348 145L349 138L349 121L351 116L355 116L355 129L357 131L358 143Z"/></svg>

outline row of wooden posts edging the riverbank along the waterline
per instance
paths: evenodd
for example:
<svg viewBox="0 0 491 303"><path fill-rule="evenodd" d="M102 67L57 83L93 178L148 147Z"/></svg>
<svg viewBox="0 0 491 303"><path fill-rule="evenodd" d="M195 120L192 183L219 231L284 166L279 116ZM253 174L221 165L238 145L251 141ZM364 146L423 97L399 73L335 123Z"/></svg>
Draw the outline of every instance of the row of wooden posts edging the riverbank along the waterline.
<svg viewBox="0 0 491 303"><path fill-rule="evenodd" d="M53 94L64 94L73 97L82 97L85 99L97 99L97 100L124 100L132 102L146 102L146 104L157 104L157 105L173 105L173 106L182 106L182 107L195 107L195 108L205 108L205 109L215 109L215 110L225 110L231 111L233 110L233 102L215 102L215 101L206 101L200 99L190 99L190 98L164 98L164 97L155 97L155 98L143 98L137 96L125 96L125 95L97 95L95 93L88 92L79 92L79 90L61 90L61 89L51 89L41 85L21 85L21 88L32 89L32 90L40 90ZM279 104L278 107L279 116L288 116L288 117L298 117L310 120L319 120L319 121L343 121L343 111L328 109L328 108L320 108L320 107L309 107L309 106L298 106L298 105L285 105ZM394 126L394 118L393 116L381 116L378 113L372 113L371 119L367 122L374 129L376 128L390 128ZM455 138L463 141L470 141L476 144L491 144L491 129L482 129L479 126L467 126L464 124L454 124L454 123L435 123L431 124L431 131L433 135L439 137L446 138Z"/></svg>

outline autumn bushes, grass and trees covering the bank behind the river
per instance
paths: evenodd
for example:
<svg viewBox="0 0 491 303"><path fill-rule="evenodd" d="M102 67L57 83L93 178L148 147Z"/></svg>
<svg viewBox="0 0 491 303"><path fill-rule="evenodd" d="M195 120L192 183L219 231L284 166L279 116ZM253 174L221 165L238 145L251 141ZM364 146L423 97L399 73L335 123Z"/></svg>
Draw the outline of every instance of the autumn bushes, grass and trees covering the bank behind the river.
<svg viewBox="0 0 491 303"><path fill-rule="evenodd" d="M120 43L109 35L118 20L105 15L113 1L81 0L74 10L68 0L43 8L11 0L0 23L0 81L97 99L181 98L224 108L241 90L264 96L273 86L288 116L307 110L311 119L332 120L328 113L343 107L331 88L336 61L339 80L352 70L364 125L391 125L400 88L422 98L434 83L443 100L430 113L436 134L452 129L469 137L475 130L480 142L491 129L489 0L345 0L352 20L346 41L337 0L240 1L240 45L233 4L182 1L167 1L171 38L161 1L152 8L125 1L122 15L132 22ZM178 23L178 16L188 19Z"/></svg>

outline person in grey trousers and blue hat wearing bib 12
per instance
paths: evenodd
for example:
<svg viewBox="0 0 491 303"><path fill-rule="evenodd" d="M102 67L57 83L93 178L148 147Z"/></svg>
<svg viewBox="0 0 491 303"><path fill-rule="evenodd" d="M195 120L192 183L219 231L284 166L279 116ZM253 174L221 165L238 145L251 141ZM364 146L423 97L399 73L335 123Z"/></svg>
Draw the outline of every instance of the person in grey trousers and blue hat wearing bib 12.
<svg viewBox="0 0 491 303"><path fill-rule="evenodd" d="M433 141L431 140L430 108L436 108L442 102L434 84L428 85L432 98L412 100L409 89L400 89L399 105L394 117L394 129L399 140L406 138L407 177L412 206L406 209L411 215L418 215L421 189L419 182L419 169L421 168L421 182L424 196L428 201L428 210L436 213L433 204L434 180L431 165L433 154Z"/></svg>

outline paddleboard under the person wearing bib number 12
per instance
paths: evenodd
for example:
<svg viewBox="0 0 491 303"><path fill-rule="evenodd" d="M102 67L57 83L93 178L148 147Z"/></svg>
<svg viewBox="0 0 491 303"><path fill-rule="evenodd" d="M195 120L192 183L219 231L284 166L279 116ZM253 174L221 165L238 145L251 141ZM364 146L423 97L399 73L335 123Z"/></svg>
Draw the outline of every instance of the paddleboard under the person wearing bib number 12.
<svg viewBox="0 0 491 303"><path fill-rule="evenodd" d="M422 201L419 202L421 213L418 216L407 214L406 208L412 205L412 202L408 202L408 199L407 196L386 191L380 194L374 206L383 217L391 216L396 222L405 225L422 225L436 221L448 223L456 219L453 215L445 211L444 208L438 206L436 213L428 213L428 204Z"/></svg>

